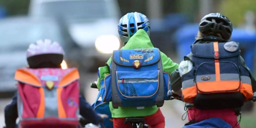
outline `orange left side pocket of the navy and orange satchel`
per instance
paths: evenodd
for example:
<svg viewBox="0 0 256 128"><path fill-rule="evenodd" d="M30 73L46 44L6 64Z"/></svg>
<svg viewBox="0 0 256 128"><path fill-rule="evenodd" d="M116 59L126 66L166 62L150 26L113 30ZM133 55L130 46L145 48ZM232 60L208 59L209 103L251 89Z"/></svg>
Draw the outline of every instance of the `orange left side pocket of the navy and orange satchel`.
<svg viewBox="0 0 256 128"><path fill-rule="evenodd" d="M182 90L182 94L184 102L193 103L194 98L197 95L197 88L196 86L185 88L184 90Z"/></svg>

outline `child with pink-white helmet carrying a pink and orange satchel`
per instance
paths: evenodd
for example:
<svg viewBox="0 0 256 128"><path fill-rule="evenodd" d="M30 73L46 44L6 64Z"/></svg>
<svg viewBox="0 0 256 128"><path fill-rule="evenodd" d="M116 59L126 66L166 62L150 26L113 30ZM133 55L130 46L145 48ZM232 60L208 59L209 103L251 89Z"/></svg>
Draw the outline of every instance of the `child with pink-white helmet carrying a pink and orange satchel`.
<svg viewBox="0 0 256 128"><path fill-rule="evenodd" d="M29 67L16 71L18 92L13 96L11 104L5 107L6 128L17 127L18 116L20 121L23 121L23 118L30 120L28 122L24 120L26 126L37 120L39 123L42 121L43 124L47 124L42 119L48 119L48 117L51 121L56 119L51 117L59 117L65 121L64 124L72 122L68 119L69 117L77 120L79 114L88 122L98 125L106 117L106 115L95 113L85 98L79 95L79 73L75 68L61 69L63 55L64 51L57 42L38 40L35 44L30 44L27 50ZM55 86L57 84L59 87ZM60 87L62 84L63 87ZM56 90L57 94L54 92ZM57 97L58 99L55 100ZM61 120L56 120L56 124L59 122ZM72 124L76 123L72 122ZM57 125L57 127L64 126ZM40 125L36 127L39 128Z"/></svg>

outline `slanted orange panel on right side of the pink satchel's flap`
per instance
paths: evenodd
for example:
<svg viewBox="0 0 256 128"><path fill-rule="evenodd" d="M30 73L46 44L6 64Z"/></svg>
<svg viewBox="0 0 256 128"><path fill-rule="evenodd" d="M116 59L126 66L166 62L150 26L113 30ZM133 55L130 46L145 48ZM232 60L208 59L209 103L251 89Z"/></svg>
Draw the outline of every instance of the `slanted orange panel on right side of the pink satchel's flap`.
<svg viewBox="0 0 256 128"><path fill-rule="evenodd" d="M73 71L71 71L70 73L68 73L67 75L65 75L61 81L59 82L58 86L64 86L69 84L70 82L79 79L79 72L77 69L74 69Z"/></svg>

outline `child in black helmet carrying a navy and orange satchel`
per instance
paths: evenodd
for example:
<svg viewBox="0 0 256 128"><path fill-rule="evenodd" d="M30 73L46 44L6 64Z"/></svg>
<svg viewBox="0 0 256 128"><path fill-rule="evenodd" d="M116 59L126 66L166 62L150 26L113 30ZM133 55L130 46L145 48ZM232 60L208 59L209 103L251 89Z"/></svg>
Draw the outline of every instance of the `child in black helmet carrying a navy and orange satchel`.
<svg viewBox="0 0 256 128"><path fill-rule="evenodd" d="M232 30L226 16L204 16L191 53L171 74L172 92L190 103L190 122L221 118L240 128L239 108L252 98L256 81L240 56L239 43L229 42Z"/></svg>

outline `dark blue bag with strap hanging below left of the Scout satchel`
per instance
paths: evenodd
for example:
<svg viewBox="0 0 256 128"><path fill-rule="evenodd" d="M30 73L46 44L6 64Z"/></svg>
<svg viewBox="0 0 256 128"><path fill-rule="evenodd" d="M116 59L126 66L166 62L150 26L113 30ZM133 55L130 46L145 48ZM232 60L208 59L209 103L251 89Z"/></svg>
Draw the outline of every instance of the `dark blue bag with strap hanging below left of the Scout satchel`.
<svg viewBox="0 0 256 128"><path fill-rule="evenodd" d="M108 118L103 119L103 122L100 123L101 128L113 128L113 119L109 109L109 102L102 102L99 100L101 92L102 90L99 91L96 101L92 104L92 108L94 108L94 111L97 113L108 115Z"/></svg>

